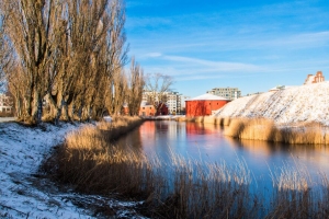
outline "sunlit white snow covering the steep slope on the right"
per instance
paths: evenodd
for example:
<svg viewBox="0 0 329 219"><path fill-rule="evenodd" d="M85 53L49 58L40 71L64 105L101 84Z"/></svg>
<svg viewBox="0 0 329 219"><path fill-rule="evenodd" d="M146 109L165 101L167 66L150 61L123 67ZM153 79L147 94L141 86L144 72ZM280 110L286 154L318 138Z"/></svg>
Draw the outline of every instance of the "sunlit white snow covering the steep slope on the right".
<svg viewBox="0 0 329 219"><path fill-rule="evenodd" d="M288 88L237 99L218 117L265 117L277 124L319 122L329 126L329 82Z"/></svg>

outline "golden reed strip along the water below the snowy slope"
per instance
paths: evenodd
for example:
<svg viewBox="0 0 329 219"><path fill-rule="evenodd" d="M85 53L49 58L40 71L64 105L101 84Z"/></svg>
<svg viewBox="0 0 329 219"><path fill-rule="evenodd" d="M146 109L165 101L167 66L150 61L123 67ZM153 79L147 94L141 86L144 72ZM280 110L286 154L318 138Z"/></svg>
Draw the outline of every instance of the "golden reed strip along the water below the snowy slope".
<svg viewBox="0 0 329 219"><path fill-rule="evenodd" d="M329 145L328 127L319 123L276 125L266 118L229 118L215 116L184 117L178 122L215 124L225 135L237 139L264 140L288 145Z"/></svg>

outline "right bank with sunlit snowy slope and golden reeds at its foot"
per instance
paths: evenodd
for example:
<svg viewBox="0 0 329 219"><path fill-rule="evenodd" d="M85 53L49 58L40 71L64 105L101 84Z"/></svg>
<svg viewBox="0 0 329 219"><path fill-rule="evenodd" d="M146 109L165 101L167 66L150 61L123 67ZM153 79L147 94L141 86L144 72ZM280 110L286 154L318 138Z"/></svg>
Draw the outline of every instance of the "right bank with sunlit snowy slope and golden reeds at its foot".
<svg viewBox="0 0 329 219"><path fill-rule="evenodd" d="M239 97L213 116L181 122L220 125L238 139L288 145L329 145L329 82Z"/></svg>

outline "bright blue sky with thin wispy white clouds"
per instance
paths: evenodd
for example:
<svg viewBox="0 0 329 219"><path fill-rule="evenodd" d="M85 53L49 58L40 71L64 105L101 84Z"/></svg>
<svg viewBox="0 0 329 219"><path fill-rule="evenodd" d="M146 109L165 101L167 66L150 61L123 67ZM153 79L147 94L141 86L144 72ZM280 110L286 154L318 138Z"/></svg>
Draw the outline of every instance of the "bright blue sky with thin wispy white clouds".
<svg viewBox="0 0 329 219"><path fill-rule="evenodd" d="M126 0L129 56L188 96L329 80L328 0Z"/></svg>

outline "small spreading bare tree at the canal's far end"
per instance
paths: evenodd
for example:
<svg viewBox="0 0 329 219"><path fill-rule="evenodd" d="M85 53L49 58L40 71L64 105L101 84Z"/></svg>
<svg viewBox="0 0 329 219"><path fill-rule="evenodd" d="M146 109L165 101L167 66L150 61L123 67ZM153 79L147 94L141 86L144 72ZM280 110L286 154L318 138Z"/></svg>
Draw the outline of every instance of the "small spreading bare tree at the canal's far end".
<svg viewBox="0 0 329 219"><path fill-rule="evenodd" d="M147 74L145 83L145 94L148 102L154 105L157 113L167 102L167 93L170 91L170 87L173 83L173 79L170 76L162 73Z"/></svg>

